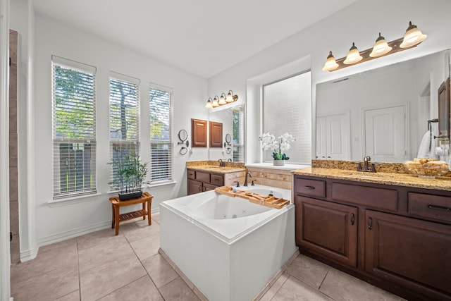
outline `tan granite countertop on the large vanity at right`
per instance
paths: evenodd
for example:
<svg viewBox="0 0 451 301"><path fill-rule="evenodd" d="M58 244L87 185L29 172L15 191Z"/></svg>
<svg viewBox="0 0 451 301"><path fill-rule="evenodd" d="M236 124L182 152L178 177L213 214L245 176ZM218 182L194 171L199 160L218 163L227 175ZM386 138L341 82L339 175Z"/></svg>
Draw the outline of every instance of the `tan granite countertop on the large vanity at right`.
<svg viewBox="0 0 451 301"><path fill-rule="evenodd" d="M300 176L315 176L319 178L354 180L357 182L451 191L451 178L449 177L431 179L419 178L416 175L408 173L364 173L348 169L316 167L300 168L292 171L292 173Z"/></svg>

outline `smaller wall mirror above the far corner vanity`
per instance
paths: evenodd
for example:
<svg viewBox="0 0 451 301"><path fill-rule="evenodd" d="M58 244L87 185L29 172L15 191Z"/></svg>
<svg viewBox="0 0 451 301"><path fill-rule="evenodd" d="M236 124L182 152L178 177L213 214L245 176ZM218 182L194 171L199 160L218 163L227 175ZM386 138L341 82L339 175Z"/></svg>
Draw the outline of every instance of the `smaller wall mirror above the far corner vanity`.
<svg viewBox="0 0 451 301"><path fill-rule="evenodd" d="M245 161L245 105L210 109L209 121L223 124L223 147L209 147L209 159ZM229 139L230 137L230 139ZM227 142L230 141L230 142Z"/></svg>

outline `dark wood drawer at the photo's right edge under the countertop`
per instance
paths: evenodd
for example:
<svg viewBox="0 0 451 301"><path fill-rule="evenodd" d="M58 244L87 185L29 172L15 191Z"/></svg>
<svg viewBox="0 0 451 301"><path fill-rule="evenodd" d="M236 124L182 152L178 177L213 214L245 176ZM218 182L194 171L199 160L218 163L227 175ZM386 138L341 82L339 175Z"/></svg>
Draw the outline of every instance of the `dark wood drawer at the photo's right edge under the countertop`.
<svg viewBox="0 0 451 301"><path fill-rule="evenodd" d="M409 192L409 214L451 223L451 197Z"/></svg>

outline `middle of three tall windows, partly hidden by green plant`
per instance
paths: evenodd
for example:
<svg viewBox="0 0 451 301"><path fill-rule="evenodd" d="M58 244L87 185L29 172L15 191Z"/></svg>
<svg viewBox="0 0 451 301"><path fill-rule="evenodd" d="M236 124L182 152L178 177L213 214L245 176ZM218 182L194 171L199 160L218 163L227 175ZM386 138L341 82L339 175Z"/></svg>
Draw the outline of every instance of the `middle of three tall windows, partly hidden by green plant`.
<svg viewBox="0 0 451 301"><path fill-rule="evenodd" d="M125 75L110 75L110 157L121 160L139 154L140 80ZM111 167L111 190L118 190L117 167Z"/></svg>

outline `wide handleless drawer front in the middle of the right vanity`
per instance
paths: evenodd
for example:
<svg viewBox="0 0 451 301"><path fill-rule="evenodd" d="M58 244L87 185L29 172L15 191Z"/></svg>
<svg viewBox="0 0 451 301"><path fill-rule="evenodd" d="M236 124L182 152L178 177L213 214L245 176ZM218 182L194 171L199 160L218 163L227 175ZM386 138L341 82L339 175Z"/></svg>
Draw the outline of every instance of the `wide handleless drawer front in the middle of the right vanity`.
<svg viewBox="0 0 451 301"><path fill-rule="evenodd" d="M397 211L397 190L332 183L332 198L335 201Z"/></svg>

